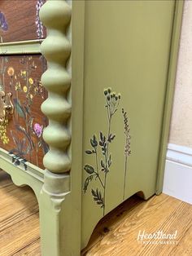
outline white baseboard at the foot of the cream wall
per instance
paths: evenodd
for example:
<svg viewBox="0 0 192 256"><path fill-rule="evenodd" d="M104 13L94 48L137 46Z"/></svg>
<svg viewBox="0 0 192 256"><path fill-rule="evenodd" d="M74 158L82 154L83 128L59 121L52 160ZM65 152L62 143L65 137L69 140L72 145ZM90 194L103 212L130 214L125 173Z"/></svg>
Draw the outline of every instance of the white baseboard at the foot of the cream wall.
<svg viewBox="0 0 192 256"><path fill-rule="evenodd" d="M168 144L163 192L192 204L192 148Z"/></svg>

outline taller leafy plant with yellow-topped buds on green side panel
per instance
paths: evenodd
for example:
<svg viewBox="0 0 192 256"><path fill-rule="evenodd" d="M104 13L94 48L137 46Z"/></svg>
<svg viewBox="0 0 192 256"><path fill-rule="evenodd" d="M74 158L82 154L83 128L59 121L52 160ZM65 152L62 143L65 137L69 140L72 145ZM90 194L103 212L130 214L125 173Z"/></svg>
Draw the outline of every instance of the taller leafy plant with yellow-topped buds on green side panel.
<svg viewBox="0 0 192 256"><path fill-rule="evenodd" d="M107 174L110 172L112 159L110 152L110 144L115 139L116 135L111 131L112 117L116 114L120 104L120 94L111 92L111 88L104 90L105 96L105 108L107 111L107 135L104 135L102 131L99 133L99 138L96 135L90 139L91 148L86 150L85 153L93 155L95 157L95 166L86 164L84 170L88 174L84 183L84 192L87 191L89 183L95 179L98 180L100 188L92 188L91 194L94 201L103 208L103 215L105 214L106 205L106 188L107 188ZM101 152L102 157L100 158L98 152Z"/></svg>

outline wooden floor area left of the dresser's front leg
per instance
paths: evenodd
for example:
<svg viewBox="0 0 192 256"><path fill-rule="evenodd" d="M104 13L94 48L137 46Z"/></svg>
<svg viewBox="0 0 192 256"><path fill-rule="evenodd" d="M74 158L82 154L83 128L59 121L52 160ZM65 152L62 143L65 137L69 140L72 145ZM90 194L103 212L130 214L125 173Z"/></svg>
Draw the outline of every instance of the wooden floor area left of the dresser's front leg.
<svg viewBox="0 0 192 256"><path fill-rule="evenodd" d="M0 255L40 254L37 199L28 188L18 188L0 170Z"/></svg>

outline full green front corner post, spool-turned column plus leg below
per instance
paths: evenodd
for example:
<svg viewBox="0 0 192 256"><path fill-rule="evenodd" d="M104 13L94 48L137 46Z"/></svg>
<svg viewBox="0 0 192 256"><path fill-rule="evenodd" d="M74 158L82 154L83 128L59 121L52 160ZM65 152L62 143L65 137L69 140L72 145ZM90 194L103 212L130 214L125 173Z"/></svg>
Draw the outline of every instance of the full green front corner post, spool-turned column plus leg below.
<svg viewBox="0 0 192 256"><path fill-rule="evenodd" d="M72 203L72 186L69 182L71 42L68 39L68 27L71 15L69 2L64 0L48 0L40 11L41 21L47 29L47 37L41 43L41 53L48 62L41 82L49 91L48 99L41 104L42 112L49 118L49 126L43 131L43 138L50 146L50 151L43 159L46 173L39 200L43 256L80 255L81 220L72 217L76 207Z"/></svg>

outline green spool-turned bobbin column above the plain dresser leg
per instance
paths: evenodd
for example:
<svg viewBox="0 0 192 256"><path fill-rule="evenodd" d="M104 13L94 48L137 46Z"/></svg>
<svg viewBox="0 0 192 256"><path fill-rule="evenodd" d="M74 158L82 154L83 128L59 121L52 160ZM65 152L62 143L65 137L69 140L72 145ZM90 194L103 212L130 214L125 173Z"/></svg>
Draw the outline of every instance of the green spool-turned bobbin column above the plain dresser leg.
<svg viewBox="0 0 192 256"><path fill-rule="evenodd" d="M43 132L43 139L50 146L43 164L55 174L71 169L68 153L71 143L71 74L68 71L70 68L67 68L71 54L71 43L68 41L71 13L71 7L64 0L48 0L40 11L41 21L47 29L47 37L41 43L41 53L48 62L41 82L49 92L48 99L41 104L42 112L49 118L49 126Z"/></svg>

